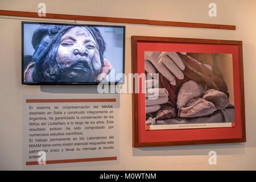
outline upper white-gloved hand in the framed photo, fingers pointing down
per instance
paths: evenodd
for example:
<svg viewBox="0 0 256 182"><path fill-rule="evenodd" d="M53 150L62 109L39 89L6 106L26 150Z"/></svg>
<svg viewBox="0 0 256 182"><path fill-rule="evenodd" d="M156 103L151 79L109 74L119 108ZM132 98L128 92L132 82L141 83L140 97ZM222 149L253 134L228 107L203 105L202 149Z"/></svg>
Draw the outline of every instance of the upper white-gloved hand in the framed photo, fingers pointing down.
<svg viewBox="0 0 256 182"><path fill-rule="evenodd" d="M152 68L150 68L150 65L147 63L147 61L150 61L150 63L170 81L171 85L176 85L176 78L179 80L184 78L182 71L184 71L185 65L176 52L146 52L144 59L146 72L152 73ZM154 75L154 73L155 72L153 72L152 75Z"/></svg>

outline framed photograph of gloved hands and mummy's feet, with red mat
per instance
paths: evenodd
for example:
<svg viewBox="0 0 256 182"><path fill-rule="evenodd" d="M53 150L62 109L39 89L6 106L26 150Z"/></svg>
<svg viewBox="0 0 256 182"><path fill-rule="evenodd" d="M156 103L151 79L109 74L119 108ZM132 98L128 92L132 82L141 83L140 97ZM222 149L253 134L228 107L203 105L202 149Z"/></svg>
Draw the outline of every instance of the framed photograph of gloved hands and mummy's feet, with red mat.
<svg viewBox="0 0 256 182"><path fill-rule="evenodd" d="M133 146L246 142L242 42L131 37Z"/></svg>

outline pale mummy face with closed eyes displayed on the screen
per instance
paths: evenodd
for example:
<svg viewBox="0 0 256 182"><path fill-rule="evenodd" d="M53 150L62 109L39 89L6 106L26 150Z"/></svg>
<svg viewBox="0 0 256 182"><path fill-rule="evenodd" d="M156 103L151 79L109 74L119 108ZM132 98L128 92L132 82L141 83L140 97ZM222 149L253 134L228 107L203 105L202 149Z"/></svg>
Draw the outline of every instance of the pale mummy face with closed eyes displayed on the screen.
<svg viewBox="0 0 256 182"><path fill-rule="evenodd" d="M101 72L99 46L86 27L73 27L63 34L56 61L65 81L95 81Z"/></svg>

